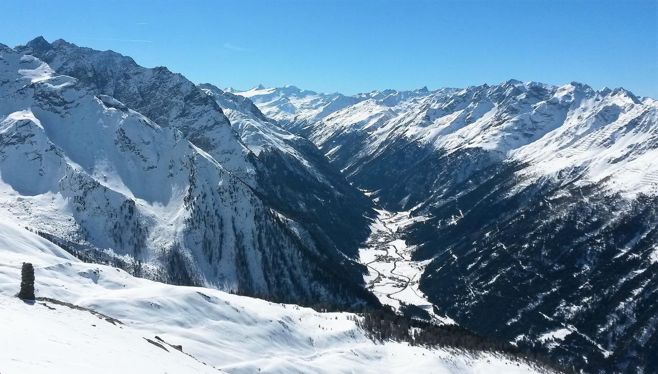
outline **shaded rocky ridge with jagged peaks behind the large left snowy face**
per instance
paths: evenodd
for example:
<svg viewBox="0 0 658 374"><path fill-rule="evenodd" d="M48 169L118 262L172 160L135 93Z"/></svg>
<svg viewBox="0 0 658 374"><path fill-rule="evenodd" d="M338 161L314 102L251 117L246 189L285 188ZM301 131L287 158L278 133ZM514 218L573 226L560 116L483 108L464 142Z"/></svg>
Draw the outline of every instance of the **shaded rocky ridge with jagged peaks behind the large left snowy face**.
<svg viewBox="0 0 658 374"><path fill-rule="evenodd" d="M255 159L222 110L183 75L162 66L143 68L113 51L37 37L14 49L36 56L55 72L75 77L93 94L112 96L161 127L173 127L234 175L253 184Z"/></svg>

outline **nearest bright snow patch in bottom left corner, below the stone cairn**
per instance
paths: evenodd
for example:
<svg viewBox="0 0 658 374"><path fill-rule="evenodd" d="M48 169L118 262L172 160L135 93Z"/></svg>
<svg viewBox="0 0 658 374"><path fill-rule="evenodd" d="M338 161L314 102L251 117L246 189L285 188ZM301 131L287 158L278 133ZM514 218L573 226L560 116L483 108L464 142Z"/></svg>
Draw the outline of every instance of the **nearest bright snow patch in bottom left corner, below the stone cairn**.
<svg viewBox="0 0 658 374"><path fill-rule="evenodd" d="M218 373L84 310L0 295L0 316L3 373Z"/></svg>

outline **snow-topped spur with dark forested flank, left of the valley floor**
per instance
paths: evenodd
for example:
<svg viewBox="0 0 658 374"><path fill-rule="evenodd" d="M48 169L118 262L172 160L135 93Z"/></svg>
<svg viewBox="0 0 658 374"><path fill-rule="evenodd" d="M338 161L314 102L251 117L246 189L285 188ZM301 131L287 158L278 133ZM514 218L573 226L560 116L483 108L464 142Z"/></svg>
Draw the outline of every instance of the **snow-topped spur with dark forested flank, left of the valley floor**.
<svg viewBox="0 0 658 374"><path fill-rule="evenodd" d="M318 243L335 243L354 258L367 237L372 201L347 183L309 140L266 117L243 96L199 85L215 99L257 155L259 192L270 206L300 222Z"/></svg>

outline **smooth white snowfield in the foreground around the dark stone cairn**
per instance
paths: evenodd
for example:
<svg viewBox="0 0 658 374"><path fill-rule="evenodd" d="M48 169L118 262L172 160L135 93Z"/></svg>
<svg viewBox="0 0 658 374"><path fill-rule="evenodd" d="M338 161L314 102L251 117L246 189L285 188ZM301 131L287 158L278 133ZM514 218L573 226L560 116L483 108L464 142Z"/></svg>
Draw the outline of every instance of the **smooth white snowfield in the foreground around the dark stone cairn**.
<svg viewBox="0 0 658 374"><path fill-rule="evenodd" d="M38 297L88 310L13 297L22 262L35 266ZM0 220L3 374L536 372L492 354L376 344L351 318L134 278Z"/></svg>

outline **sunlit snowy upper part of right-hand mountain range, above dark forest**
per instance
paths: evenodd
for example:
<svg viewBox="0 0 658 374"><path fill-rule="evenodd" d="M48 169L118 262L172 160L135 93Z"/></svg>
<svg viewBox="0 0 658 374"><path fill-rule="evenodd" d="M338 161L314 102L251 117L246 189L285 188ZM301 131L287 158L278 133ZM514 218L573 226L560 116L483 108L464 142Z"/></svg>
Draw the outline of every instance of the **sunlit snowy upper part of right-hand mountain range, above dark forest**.
<svg viewBox="0 0 658 374"><path fill-rule="evenodd" d="M338 110L300 132L369 190L388 182L372 179L380 171L371 163L401 152L396 147L411 147L404 153L413 153L416 163L426 162L423 152L446 157L471 152L484 163L509 159L540 165L531 169L538 177L584 166L584 174L594 180L612 176L607 183L619 184L617 189L639 192L652 188L633 180L651 178L647 174L655 167L651 160L657 156L652 149L656 129L651 123L656 108L655 100L641 102L623 89L508 81L463 90L395 92ZM636 129L634 121L644 121L647 128ZM638 144L642 149L636 149ZM609 162L612 159L615 163ZM620 172L622 168L628 170ZM407 184L389 174L391 182ZM407 190L391 187L402 190L393 197L402 209L425 200L415 197L425 193L417 184ZM392 196L384 198L393 202Z"/></svg>

